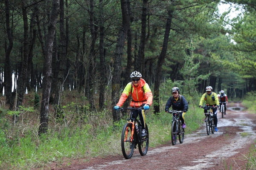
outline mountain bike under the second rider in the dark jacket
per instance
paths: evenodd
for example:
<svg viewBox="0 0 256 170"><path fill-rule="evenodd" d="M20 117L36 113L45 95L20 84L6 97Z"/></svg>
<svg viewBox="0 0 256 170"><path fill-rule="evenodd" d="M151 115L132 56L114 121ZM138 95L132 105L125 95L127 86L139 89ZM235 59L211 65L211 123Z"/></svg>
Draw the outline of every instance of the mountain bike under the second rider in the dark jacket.
<svg viewBox="0 0 256 170"><path fill-rule="evenodd" d="M175 145L177 142L177 135L179 136L180 143L183 143L184 140L184 128L182 128L181 120L180 120L180 113L183 111L168 111L168 113L172 114L172 145Z"/></svg>

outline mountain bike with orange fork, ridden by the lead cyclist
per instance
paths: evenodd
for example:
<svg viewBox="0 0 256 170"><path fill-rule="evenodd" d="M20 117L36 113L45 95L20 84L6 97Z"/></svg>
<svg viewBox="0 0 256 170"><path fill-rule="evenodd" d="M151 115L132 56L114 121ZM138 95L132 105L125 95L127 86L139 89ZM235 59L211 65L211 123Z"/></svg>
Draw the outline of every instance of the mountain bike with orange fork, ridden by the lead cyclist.
<svg viewBox="0 0 256 170"><path fill-rule="evenodd" d="M145 124L145 130L147 131L147 135L145 137L141 137L142 125L140 120L138 120L132 111L134 110L142 110L143 108L120 108L122 112L125 110L129 110L129 118L127 119L127 123L124 125L122 129L122 137L121 137L121 147L122 154L125 159L130 159L134 153L134 149L138 145L140 155L145 156L148 152L148 126ZM138 130L136 128L136 124L138 126Z"/></svg>

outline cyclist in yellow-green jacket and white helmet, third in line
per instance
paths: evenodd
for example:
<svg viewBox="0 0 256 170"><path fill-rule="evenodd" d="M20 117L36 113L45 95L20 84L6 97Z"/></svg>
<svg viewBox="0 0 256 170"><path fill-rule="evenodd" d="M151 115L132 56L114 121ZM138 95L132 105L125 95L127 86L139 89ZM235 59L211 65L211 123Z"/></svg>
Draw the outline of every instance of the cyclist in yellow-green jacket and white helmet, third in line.
<svg viewBox="0 0 256 170"><path fill-rule="evenodd" d="M219 108L220 102L218 100L217 94L212 91L212 86L207 86L206 87L206 93L204 93L203 96L200 99L199 108L202 107L204 101L206 102L206 105L217 106L217 108ZM218 123L217 108L212 108L213 119L214 119L215 131L216 132L218 131L218 128L217 128L217 123ZM204 109L204 113L207 113L207 108Z"/></svg>

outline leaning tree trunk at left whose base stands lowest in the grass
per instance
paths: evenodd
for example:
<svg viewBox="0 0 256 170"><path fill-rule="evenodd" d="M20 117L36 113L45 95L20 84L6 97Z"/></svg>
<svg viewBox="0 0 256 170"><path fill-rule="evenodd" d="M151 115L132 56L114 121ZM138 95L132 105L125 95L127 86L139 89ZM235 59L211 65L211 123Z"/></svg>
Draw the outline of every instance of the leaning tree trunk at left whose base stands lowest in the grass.
<svg viewBox="0 0 256 170"><path fill-rule="evenodd" d="M49 120L49 97L51 92L52 83L52 47L54 41L55 27L59 14L60 0L52 0L52 12L48 25L47 41L45 45L45 56L44 56L44 80L43 80L43 91L42 91L42 102L40 111L40 126L38 135L47 133L48 120Z"/></svg>

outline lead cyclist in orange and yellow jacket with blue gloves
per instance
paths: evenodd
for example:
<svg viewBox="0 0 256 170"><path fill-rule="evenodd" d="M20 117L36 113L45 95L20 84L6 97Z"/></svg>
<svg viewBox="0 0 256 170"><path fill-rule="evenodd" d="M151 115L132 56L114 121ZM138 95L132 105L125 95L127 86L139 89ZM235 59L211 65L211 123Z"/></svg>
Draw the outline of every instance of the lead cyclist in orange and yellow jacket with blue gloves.
<svg viewBox="0 0 256 170"><path fill-rule="evenodd" d="M144 108L144 110L148 110L149 106L152 105L153 102L153 94L151 89L148 86L148 83L142 79L139 71L134 71L130 75L131 82L129 82L126 86L122 95L119 99L119 102L114 107L115 110L118 110L125 102L125 100L131 94L131 103L130 106L132 108ZM134 116L137 117L140 115L140 122L142 125L141 136L145 137L147 131L145 130L145 113L144 110L133 111Z"/></svg>

